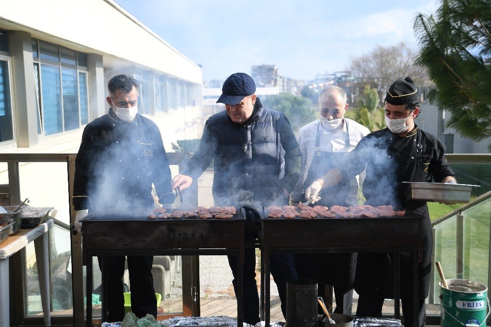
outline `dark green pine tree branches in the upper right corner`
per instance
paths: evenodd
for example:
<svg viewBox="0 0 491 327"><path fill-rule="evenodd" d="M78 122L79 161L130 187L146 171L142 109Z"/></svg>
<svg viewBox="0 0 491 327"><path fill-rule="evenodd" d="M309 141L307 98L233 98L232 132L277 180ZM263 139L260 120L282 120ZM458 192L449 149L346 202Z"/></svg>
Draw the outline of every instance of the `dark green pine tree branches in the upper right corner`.
<svg viewBox="0 0 491 327"><path fill-rule="evenodd" d="M414 30L416 63L435 83L429 100L451 112L447 127L476 141L490 137L491 1L442 0L434 15L416 16Z"/></svg>

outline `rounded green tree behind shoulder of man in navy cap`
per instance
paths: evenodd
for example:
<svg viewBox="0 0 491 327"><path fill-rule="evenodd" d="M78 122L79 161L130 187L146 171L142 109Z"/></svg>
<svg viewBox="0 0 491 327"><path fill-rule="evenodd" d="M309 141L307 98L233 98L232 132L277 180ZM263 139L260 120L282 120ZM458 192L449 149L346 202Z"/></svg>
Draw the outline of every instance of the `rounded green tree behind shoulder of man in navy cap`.
<svg viewBox="0 0 491 327"><path fill-rule="evenodd" d="M295 133L300 130L300 127L317 119L318 111L307 98L290 93L280 93L261 97L261 102L267 108L283 112L292 124Z"/></svg>

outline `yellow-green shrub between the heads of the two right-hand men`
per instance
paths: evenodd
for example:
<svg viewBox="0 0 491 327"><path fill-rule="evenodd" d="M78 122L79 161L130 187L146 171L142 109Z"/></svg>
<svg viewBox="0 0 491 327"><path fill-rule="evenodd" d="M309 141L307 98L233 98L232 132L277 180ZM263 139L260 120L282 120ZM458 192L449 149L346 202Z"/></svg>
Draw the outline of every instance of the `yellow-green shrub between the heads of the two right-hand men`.
<svg viewBox="0 0 491 327"><path fill-rule="evenodd" d="M353 110L352 119L368 128L370 132L385 128L383 109L379 104L377 89L366 84L358 106Z"/></svg>

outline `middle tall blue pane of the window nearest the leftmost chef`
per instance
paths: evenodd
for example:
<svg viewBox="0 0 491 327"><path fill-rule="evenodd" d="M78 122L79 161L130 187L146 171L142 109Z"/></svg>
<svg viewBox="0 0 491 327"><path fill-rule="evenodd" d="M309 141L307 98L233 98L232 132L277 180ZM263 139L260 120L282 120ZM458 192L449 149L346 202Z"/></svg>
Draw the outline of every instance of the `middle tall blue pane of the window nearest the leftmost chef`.
<svg viewBox="0 0 491 327"><path fill-rule="evenodd" d="M77 88L77 70L61 68L63 85L63 119L65 131L79 128L79 90Z"/></svg>

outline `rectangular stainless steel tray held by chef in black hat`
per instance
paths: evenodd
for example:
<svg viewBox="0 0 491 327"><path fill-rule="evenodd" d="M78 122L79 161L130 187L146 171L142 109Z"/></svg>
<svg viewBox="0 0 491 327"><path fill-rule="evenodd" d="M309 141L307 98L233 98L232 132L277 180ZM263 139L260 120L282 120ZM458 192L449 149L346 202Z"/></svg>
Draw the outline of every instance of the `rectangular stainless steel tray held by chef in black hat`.
<svg viewBox="0 0 491 327"><path fill-rule="evenodd" d="M402 182L408 186L411 199L442 203L467 203L472 187L479 185Z"/></svg>

